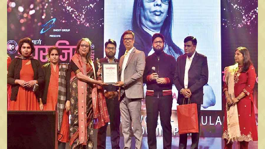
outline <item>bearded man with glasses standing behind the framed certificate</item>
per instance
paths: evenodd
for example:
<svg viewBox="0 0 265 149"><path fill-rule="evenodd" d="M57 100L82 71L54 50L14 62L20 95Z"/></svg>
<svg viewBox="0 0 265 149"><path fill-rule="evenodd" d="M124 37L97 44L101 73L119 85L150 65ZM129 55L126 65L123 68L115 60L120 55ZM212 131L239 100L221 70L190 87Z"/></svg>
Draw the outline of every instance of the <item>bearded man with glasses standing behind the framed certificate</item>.
<svg viewBox="0 0 265 149"><path fill-rule="evenodd" d="M109 39L105 43L106 57L99 59L101 63L119 62L119 59L115 58L116 54L116 42ZM97 68L97 76L101 76L101 67ZM118 101L119 87L113 85L107 85L103 87L104 95L106 97L106 104L108 113L110 115L110 141L112 149L120 149L120 102ZM97 132L97 149L106 148L106 132L108 123L105 126L99 128Z"/></svg>

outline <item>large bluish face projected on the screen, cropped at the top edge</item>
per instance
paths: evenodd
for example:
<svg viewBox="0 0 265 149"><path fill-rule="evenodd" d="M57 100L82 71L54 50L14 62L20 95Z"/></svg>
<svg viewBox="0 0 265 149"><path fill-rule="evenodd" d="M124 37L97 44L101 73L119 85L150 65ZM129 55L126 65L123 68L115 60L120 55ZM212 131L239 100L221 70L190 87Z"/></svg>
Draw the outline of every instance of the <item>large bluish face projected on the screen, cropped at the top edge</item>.
<svg viewBox="0 0 265 149"><path fill-rule="evenodd" d="M168 14L168 0L143 0L140 9L141 21L148 29L159 29Z"/></svg>

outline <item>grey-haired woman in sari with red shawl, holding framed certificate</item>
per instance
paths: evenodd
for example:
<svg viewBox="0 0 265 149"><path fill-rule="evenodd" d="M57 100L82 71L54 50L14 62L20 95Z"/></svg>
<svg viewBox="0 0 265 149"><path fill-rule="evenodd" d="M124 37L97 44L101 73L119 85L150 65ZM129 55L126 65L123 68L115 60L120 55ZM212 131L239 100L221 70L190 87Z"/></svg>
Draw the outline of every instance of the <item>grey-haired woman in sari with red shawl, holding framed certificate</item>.
<svg viewBox="0 0 265 149"><path fill-rule="evenodd" d="M72 149L92 149L93 128L100 128L109 122L103 90L107 85L96 80L95 67L90 59L91 41L82 38L76 48L76 54L70 62L70 147Z"/></svg>

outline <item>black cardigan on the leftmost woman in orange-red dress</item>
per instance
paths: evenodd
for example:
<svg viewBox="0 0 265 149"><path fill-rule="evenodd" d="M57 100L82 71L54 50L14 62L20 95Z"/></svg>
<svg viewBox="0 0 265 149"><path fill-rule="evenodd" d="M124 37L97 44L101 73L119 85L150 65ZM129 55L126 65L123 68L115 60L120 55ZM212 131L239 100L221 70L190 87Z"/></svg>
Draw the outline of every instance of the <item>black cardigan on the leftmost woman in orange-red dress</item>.
<svg viewBox="0 0 265 149"><path fill-rule="evenodd" d="M44 83L44 75L41 65L37 59L30 59L34 72L34 80L38 81L38 85ZM11 85L11 100L16 100L19 90L19 84L15 84L15 80L20 79L20 70L22 68L22 59L15 58L11 61L8 68L7 83ZM39 99L39 90L35 92L36 98Z"/></svg>

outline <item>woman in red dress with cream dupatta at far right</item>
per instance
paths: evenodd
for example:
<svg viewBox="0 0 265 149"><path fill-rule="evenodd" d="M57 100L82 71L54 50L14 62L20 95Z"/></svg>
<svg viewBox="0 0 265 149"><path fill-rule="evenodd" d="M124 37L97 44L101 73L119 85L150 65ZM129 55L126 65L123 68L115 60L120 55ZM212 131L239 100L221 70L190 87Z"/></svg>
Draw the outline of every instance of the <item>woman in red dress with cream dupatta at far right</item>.
<svg viewBox="0 0 265 149"><path fill-rule="evenodd" d="M225 149L232 149L233 141L239 148L248 148L249 141L257 141L253 88L256 73L245 47L235 50L236 64L225 68L223 92L226 96L223 139Z"/></svg>

